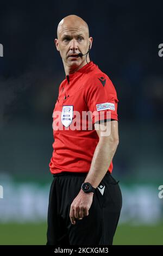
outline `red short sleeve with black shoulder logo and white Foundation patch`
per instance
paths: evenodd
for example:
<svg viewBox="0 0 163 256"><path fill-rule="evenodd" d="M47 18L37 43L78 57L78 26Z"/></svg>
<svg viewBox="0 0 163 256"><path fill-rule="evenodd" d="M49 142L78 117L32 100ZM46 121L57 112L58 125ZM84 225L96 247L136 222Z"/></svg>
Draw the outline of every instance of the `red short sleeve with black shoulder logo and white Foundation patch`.
<svg viewBox="0 0 163 256"><path fill-rule="evenodd" d="M85 101L92 115L92 123L104 119L118 120L117 93L110 78L94 75L87 82Z"/></svg>

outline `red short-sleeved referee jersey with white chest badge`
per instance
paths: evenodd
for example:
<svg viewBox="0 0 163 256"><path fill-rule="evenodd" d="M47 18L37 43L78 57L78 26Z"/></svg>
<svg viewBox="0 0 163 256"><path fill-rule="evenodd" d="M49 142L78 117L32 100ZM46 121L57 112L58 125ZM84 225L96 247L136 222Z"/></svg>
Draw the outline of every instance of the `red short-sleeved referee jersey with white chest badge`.
<svg viewBox="0 0 163 256"><path fill-rule="evenodd" d="M66 76L53 111L54 150L49 163L52 174L89 172L99 141L93 125L96 120L108 118L108 113L111 119L118 120L117 102L114 85L93 62ZM83 118L83 113L90 114ZM110 173L112 168L111 162Z"/></svg>

